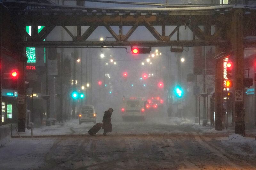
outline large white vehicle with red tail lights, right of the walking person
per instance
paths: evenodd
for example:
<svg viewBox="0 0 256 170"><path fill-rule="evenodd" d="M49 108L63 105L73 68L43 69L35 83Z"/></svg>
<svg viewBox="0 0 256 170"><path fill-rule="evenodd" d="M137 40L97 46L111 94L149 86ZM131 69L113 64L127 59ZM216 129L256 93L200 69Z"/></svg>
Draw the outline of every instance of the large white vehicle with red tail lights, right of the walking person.
<svg viewBox="0 0 256 170"><path fill-rule="evenodd" d="M123 105L121 108L123 120L129 118L139 118L140 120L145 119L145 108L144 100L142 97L130 97L123 99Z"/></svg>

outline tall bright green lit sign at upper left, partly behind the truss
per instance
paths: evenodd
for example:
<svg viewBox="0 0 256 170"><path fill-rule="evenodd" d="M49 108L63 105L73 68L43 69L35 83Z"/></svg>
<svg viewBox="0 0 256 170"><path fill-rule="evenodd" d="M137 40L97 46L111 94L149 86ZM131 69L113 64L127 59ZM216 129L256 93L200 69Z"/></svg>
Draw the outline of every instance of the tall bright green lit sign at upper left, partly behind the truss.
<svg viewBox="0 0 256 170"><path fill-rule="evenodd" d="M43 28L44 28L44 26L38 26L38 33L40 33ZM26 26L26 31L31 36L31 26ZM36 48L35 47L27 47L26 54L28 57L27 63L36 63ZM44 48L44 63L45 63L45 48Z"/></svg>

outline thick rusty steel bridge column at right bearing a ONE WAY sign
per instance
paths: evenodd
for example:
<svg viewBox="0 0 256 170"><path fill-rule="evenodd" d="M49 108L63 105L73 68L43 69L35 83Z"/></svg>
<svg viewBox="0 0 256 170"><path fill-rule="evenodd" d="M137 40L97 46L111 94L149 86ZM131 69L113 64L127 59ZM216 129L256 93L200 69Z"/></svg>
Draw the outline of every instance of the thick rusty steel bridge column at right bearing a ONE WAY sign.
<svg viewBox="0 0 256 170"><path fill-rule="evenodd" d="M245 136L244 123L244 45L243 45L243 15L242 9L233 11L231 19L231 46L235 55L235 133ZM242 97L236 97L242 93Z"/></svg>

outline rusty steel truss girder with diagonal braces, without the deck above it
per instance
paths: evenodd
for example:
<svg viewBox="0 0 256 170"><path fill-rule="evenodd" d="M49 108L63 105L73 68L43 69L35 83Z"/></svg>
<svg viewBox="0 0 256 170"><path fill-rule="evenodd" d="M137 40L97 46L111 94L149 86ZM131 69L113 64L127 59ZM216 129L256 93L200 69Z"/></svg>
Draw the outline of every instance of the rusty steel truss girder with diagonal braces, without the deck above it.
<svg viewBox="0 0 256 170"><path fill-rule="evenodd" d="M28 17L29 16L29 17ZM200 45L220 45L220 43L227 41L225 40L226 37L222 36L221 32L225 27L225 20L227 19L226 16L218 16L215 19L208 19L208 22L205 22L209 16L168 16L165 15L149 15L149 16L81 16L77 15L76 19L74 16L64 16L63 15L54 15L54 16L22 16L19 20L25 25L33 25L33 28L36 26L45 27L40 33L37 31L32 30L31 36L27 34L27 41L23 42L24 45L32 45L33 47L39 46L47 46L47 47L54 47L54 46L80 46L80 47L91 47L91 46L98 46L101 47L102 42L97 41L86 41L88 37L93 33L93 31L98 26L104 26L108 32L113 36L116 42L108 42L104 41L104 46L134 46L135 44L140 46L200 46ZM18 16L19 17L19 16ZM35 17L35 18L34 18ZM49 23L46 24L51 20L51 26ZM217 21L218 20L218 21ZM75 21L74 23L72 23ZM192 22L191 22L192 21ZM215 32L211 32L211 28L215 26L216 23L223 25L222 27L218 27ZM44 24L45 23L45 24ZM72 25L75 24L75 25ZM199 25L200 24L200 25ZM66 26L76 26L77 27L77 36L71 33ZM55 26L62 26L64 30L71 36L72 41L43 41L45 37L52 31ZM81 35L81 26L89 26L89 28ZM111 26L119 26L119 34L115 33L115 31L111 28ZM132 28L123 35L123 26L132 26ZM145 26L148 31L156 38L156 41L128 41L132 33L138 28L138 26ZM162 33L158 33L154 26L162 26ZM171 33L167 33L165 31L166 26L176 26L175 29ZM180 41L180 26L185 26L185 28L189 28L193 34L193 40L187 41ZM199 26L203 26L203 29L207 29L207 31L203 31ZM177 33L176 41L171 41L170 39L172 36ZM175 38L174 38L175 40ZM55 44L55 45L54 45ZM161 45L160 45L161 44Z"/></svg>

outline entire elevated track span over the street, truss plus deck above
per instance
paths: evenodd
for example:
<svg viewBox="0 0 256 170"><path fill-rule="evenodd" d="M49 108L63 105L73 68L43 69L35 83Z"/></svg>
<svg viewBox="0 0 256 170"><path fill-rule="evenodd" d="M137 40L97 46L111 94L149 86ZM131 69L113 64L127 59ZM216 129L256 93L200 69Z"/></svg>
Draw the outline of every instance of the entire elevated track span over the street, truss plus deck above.
<svg viewBox="0 0 256 170"><path fill-rule="evenodd" d="M16 5L22 4L20 11L15 11L16 16L13 17L17 18L17 23L23 27L33 26L31 36L26 33L26 42L19 42L26 46L75 47L78 45L80 47L101 47L102 44L104 46L133 46L135 44L140 46L228 46L228 42L230 42L228 38L230 23L227 21L231 19L232 5L197 8L104 9L23 3L20 1L12 2L16 3ZM11 5L10 1L4 1L4 3L7 6ZM27 7L22 9L24 8L23 5L27 5ZM250 27L251 22L247 18L251 16L255 18L256 10L251 8L244 8L243 10L244 12L250 11L252 13L244 17L244 22L247 23L246 26ZM40 33L37 33L37 26L45 27ZM72 41L43 41L55 26L62 26L71 36ZM76 26L77 35L72 34L66 26ZM89 26L82 35L81 26ZM86 41L98 26L104 26L116 41L104 41L104 43ZM119 26L119 34L115 33L111 26ZM132 28L124 35L123 26L132 26ZM138 26L145 26L156 38L156 41L128 41ZM162 33L158 33L154 26L162 26ZM166 26L176 27L171 33L168 33L165 30ZM192 31L193 40L180 41L181 26L185 26L185 29L189 28ZM248 32L244 32L246 36L250 36ZM177 37L173 38L172 36L175 33L177 33ZM171 41L171 39L174 41ZM246 39L244 44L251 46L255 44L255 41Z"/></svg>

